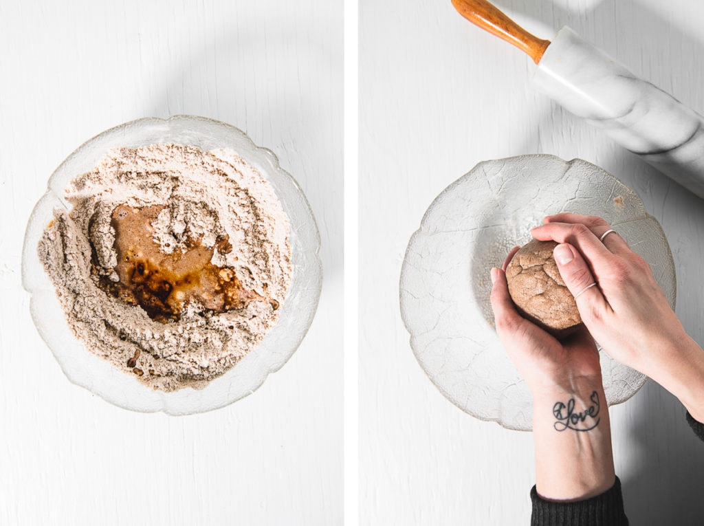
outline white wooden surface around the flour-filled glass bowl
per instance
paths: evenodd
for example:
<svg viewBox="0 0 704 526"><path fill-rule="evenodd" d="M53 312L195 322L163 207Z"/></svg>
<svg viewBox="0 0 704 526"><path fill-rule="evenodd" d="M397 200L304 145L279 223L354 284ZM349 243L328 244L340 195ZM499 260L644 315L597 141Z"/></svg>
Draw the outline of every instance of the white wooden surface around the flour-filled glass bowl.
<svg viewBox="0 0 704 526"><path fill-rule="evenodd" d="M334 525L342 518L341 1L0 3L0 524ZM108 127L203 115L272 149L322 237L318 314L227 408L116 408L61 372L20 287L52 171Z"/></svg>

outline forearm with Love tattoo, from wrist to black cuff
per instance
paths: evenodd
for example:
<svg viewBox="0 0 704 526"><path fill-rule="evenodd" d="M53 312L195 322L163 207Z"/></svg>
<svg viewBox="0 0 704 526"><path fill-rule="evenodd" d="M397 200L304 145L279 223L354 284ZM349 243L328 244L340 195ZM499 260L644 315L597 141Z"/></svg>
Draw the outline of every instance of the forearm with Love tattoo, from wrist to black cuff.
<svg viewBox="0 0 704 526"><path fill-rule="evenodd" d="M611 431L599 380L534 390L536 489L543 499L573 501L615 481Z"/></svg>

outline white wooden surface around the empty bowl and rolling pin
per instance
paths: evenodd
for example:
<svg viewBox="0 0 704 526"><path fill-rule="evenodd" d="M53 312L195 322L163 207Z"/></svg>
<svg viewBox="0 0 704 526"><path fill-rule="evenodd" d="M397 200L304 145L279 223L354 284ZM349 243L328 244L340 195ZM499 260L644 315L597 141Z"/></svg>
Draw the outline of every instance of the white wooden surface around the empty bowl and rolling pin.
<svg viewBox="0 0 704 526"><path fill-rule="evenodd" d="M700 2L496 4L543 38L570 25L704 113ZM460 411L410 349L398 307L410 235L434 197L479 161L584 158L633 188L662 224L677 268L677 313L703 344L703 201L537 93L534 63L470 25L450 0L360 0L359 63L361 523L528 524L532 434ZM684 408L648 382L611 414L631 524L700 525L704 445Z"/></svg>

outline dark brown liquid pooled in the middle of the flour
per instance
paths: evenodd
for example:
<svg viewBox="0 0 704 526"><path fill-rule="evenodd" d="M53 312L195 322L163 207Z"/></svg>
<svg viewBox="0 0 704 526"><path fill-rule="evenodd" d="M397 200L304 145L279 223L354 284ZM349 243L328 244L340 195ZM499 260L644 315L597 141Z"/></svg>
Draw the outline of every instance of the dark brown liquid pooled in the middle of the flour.
<svg viewBox="0 0 704 526"><path fill-rule="evenodd" d="M187 303L194 301L215 313L244 308L250 301L269 301L275 309L279 306L274 299L244 289L234 269L210 263L214 248L203 246L197 239L189 239L185 251L161 251L153 240L151 223L163 208L163 205L115 208L112 225L119 281L101 277L99 284L103 290L139 305L149 318L162 323L179 320ZM227 237L218 239L215 248L220 253L232 251Z"/></svg>

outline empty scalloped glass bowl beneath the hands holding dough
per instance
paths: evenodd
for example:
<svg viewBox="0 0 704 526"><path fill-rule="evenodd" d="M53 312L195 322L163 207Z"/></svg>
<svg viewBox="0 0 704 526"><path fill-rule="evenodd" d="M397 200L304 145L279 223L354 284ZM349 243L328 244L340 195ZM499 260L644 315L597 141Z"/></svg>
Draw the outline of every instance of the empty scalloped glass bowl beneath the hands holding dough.
<svg viewBox="0 0 704 526"><path fill-rule="evenodd" d="M531 429L532 396L494 330L489 271L532 239L530 227L560 212L603 217L650 264L674 308L674 262L660 224L631 189L581 159L479 163L436 197L403 261L401 315L421 367L460 409L509 429ZM608 403L626 401L646 377L599 351Z"/></svg>

